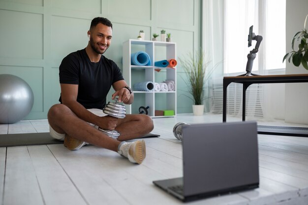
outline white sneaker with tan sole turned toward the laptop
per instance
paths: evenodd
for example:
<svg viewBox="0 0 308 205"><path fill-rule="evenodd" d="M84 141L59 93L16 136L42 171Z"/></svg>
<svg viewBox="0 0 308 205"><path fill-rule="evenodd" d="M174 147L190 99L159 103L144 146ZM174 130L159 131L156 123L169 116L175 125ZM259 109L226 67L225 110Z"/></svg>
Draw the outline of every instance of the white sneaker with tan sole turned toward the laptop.
<svg viewBox="0 0 308 205"><path fill-rule="evenodd" d="M141 164L146 158L146 143L144 140L133 142L121 142L118 153L128 158L132 163Z"/></svg>

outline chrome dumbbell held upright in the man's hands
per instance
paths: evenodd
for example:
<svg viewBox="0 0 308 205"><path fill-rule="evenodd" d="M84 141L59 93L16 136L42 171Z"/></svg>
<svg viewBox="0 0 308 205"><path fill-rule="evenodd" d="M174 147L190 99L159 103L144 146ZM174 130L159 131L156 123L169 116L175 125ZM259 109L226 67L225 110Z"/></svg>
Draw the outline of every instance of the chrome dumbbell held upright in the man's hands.
<svg viewBox="0 0 308 205"><path fill-rule="evenodd" d="M108 102L103 108L103 112L112 117L124 118L126 115L125 106L123 104L120 104L118 98L115 98L115 101L116 102ZM120 136L120 133L116 130L103 130L101 128L98 128L98 130L114 139L117 139Z"/></svg>

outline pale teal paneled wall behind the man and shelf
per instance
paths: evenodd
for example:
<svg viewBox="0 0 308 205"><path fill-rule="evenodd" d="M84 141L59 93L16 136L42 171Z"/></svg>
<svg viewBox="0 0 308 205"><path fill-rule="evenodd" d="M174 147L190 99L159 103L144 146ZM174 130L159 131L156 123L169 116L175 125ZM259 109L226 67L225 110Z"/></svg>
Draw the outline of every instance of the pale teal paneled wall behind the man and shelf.
<svg viewBox="0 0 308 205"><path fill-rule="evenodd" d="M200 15L200 0L0 0L0 74L17 75L31 86L34 105L26 119L46 119L60 96L59 65L67 54L87 46L92 18L103 16L113 23L105 56L125 69L122 44L140 30L146 40L162 29L171 33L178 57L198 48ZM177 71L178 113L192 112L179 64Z"/></svg>

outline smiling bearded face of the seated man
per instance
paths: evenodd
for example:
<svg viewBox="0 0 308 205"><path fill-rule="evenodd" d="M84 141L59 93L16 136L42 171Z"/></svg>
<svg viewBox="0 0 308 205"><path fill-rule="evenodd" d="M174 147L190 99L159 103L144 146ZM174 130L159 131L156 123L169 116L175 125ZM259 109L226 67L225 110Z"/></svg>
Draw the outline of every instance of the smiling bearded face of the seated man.
<svg viewBox="0 0 308 205"><path fill-rule="evenodd" d="M97 54L105 53L111 43L111 38L111 27L99 23L90 30L90 45Z"/></svg>

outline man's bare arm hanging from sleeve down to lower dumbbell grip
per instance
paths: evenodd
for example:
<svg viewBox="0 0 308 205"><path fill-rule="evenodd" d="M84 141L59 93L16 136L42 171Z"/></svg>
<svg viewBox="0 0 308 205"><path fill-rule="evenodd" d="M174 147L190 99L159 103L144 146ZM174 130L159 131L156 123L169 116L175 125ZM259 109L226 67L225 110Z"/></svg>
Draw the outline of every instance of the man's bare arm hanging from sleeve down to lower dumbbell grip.
<svg viewBox="0 0 308 205"><path fill-rule="evenodd" d="M78 85L61 83L62 103L70 108L80 119L98 125L100 128L114 130L118 122L117 118L105 116L99 117L88 111L82 104L77 102Z"/></svg>

